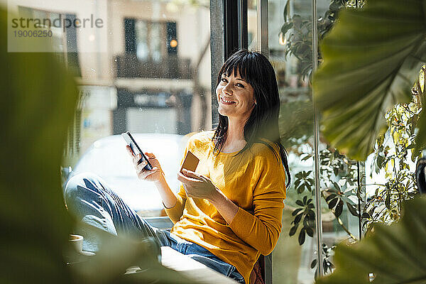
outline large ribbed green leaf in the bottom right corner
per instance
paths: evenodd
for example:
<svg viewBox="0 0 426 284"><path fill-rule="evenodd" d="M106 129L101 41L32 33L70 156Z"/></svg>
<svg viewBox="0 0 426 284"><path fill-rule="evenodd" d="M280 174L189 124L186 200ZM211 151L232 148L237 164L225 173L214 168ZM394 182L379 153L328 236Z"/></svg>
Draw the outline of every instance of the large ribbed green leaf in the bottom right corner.
<svg viewBox="0 0 426 284"><path fill-rule="evenodd" d="M358 244L337 246L331 275L318 284L426 283L426 198L405 203L398 224L374 227Z"/></svg>

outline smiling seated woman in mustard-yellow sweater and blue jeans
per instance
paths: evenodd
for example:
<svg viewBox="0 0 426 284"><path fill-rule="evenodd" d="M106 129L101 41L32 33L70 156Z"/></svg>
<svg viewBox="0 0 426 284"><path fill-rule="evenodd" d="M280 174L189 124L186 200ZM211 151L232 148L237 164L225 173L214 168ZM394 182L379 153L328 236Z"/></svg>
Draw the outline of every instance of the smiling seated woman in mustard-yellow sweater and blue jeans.
<svg viewBox="0 0 426 284"><path fill-rule="evenodd" d="M195 172L178 173L175 194L153 153L134 155L140 180L154 182L171 231L136 214L96 175L76 175L65 200L77 217L111 234L153 237L239 283L249 283L258 257L268 255L281 231L287 155L279 142L278 87L271 63L261 53L240 50L226 60L217 84L219 126L193 135L185 148L199 160ZM182 159L183 160L183 159ZM100 201L99 201L100 200Z"/></svg>

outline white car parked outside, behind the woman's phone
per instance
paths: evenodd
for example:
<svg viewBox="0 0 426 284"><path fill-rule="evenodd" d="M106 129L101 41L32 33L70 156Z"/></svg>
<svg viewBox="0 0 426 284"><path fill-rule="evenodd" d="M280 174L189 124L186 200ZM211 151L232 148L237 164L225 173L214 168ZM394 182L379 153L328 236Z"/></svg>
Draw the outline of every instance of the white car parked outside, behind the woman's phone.
<svg viewBox="0 0 426 284"><path fill-rule="evenodd" d="M187 137L177 134L132 133L144 152L154 153L160 161L170 188L178 192L178 171ZM78 173L95 173L121 197L131 209L143 217L161 216L163 202L153 182L139 180L131 157L126 153L126 142L121 135L95 141L82 155L67 177Z"/></svg>

